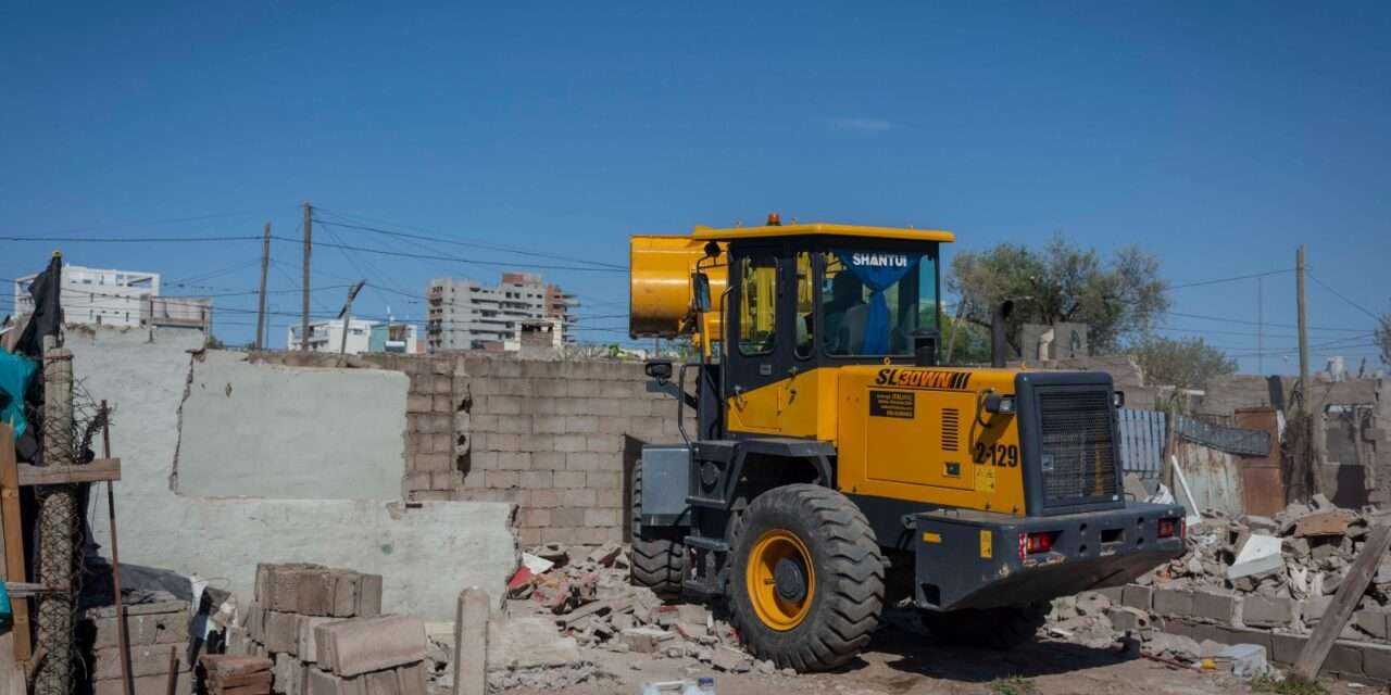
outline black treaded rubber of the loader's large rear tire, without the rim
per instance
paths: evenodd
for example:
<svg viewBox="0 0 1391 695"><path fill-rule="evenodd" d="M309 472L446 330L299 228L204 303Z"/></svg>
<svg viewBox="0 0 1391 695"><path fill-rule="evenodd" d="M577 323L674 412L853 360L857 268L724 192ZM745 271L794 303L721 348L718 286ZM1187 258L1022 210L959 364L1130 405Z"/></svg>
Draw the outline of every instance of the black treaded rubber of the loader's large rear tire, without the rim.
<svg viewBox="0 0 1391 695"><path fill-rule="evenodd" d="M750 596L750 564L758 562L751 553L761 539L779 534L796 537L811 556L811 591L801 600L810 605L790 628L765 623ZM764 492L740 518L732 553L730 613L754 656L819 671L844 664L869 644L883 609L883 557L864 513L844 495L803 484Z"/></svg>

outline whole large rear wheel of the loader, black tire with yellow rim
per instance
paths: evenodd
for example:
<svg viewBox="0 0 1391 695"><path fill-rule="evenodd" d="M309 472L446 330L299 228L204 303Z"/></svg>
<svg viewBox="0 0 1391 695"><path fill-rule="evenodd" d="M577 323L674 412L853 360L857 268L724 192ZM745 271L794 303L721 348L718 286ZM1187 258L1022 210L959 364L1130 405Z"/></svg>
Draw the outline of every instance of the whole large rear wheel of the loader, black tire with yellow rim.
<svg viewBox="0 0 1391 695"><path fill-rule="evenodd" d="M819 485L764 492L732 546L730 607L754 656L817 671L869 644L883 607L883 559L844 495Z"/></svg>

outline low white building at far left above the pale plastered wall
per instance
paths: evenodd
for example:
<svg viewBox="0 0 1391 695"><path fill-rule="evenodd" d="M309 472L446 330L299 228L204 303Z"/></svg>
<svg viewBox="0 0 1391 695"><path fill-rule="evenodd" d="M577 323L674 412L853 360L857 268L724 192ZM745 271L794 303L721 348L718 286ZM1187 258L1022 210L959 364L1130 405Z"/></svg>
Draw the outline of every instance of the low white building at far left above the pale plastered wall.
<svg viewBox="0 0 1391 695"><path fill-rule="evenodd" d="M38 277L14 281L14 313L33 313L29 288ZM206 297L160 297L159 272L64 265L61 279L63 320L86 325L182 325L207 329L213 302Z"/></svg>

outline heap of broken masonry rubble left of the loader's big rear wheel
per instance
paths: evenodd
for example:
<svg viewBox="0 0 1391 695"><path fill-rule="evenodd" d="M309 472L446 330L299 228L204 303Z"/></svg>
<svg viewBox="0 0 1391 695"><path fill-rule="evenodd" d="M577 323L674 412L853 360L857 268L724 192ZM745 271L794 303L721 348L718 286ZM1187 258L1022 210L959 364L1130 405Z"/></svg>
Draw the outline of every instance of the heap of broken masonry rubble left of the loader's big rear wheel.
<svg viewBox="0 0 1391 695"><path fill-rule="evenodd" d="M508 594L510 613L544 614L581 646L693 659L726 673L764 667L705 606L664 605L651 589L633 587L627 553L615 542L577 560L556 545L533 549Z"/></svg>

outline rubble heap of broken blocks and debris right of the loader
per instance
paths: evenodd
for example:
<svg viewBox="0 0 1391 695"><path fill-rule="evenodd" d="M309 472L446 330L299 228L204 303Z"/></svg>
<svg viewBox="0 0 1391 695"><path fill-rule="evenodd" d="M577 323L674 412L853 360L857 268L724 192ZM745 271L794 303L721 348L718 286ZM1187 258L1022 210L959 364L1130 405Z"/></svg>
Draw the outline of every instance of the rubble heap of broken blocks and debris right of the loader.
<svg viewBox="0 0 1391 695"><path fill-rule="evenodd" d="M1267 659L1294 662L1370 528L1381 524L1391 524L1391 513L1341 509L1321 495L1270 518L1207 510L1188 528L1182 557L1134 584L1054 600L1042 631L1095 648L1118 641L1166 660L1263 673ZM1380 559L1326 667L1391 680L1391 556Z"/></svg>

